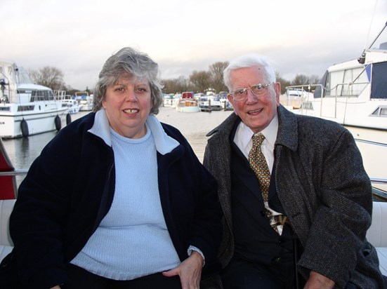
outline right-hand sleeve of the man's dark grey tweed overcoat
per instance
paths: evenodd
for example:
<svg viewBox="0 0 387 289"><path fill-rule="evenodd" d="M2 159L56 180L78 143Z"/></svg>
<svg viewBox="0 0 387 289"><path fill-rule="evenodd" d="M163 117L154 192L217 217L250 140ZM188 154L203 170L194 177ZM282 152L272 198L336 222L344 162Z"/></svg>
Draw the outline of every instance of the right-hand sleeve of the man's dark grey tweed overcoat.
<svg viewBox="0 0 387 289"><path fill-rule="evenodd" d="M310 176L318 180L313 184L317 197L306 204L311 220L299 265L306 278L309 270L317 271L344 288L358 263L358 253L365 250L372 187L352 135L341 130L334 139L329 147L320 147L317 166L321 168Z"/></svg>

